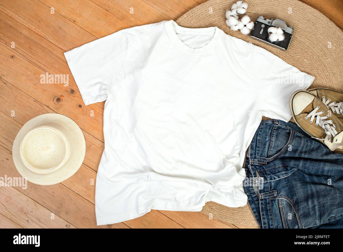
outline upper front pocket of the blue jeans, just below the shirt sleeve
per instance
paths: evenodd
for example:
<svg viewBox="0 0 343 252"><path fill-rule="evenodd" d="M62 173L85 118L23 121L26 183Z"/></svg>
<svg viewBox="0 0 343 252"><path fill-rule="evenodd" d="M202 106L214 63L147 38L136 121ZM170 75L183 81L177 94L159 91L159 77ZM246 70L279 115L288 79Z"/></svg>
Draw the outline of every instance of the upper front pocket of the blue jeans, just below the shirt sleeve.
<svg viewBox="0 0 343 252"><path fill-rule="evenodd" d="M280 124L274 124L270 135L267 161L279 158L284 152L292 151L294 131Z"/></svg>

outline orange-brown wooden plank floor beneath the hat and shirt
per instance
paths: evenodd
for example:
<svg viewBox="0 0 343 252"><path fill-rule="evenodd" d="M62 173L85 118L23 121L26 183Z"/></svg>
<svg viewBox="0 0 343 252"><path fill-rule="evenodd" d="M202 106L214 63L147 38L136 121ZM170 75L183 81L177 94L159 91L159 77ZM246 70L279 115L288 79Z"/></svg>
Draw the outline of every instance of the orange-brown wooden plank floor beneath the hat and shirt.
<svg viewBox="0 0 343 252"><path fill-rule="evenodd" d="M104 102L84 106L63 56L64 51L123 28L176 20L201 2L0 0L0 177L20 176L12 161L12 143L23 124L35 116L66 115L80 126L86 139L83 165L68 180L51 186L28 182L27 189L0 187L1 228L243 227L200 212L156 210L122 223L96 226L91 181L104 149ZM341 0L317 0L311 5L343 27ZM40 75L46 72L69 74L69 86L40 84Z"/></svg>

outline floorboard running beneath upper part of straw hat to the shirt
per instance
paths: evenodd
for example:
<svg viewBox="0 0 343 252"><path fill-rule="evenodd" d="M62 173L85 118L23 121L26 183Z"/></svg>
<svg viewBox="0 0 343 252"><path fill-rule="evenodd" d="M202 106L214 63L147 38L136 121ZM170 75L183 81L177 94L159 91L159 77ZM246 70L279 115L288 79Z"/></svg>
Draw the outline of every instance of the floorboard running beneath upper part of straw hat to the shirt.
<svg viewBox="0 0 343 252"><path fill-rule="evenodd" d="M24 125L28 120L38 115L55 112L2 78L0 78L0 94L2 100L0 103L0 111L7 116L13 116L12 118L19 122L20 128L21 125ZM82 130L82 133L86 140L86 155L83 163L97 171L104 150L104 143L84 130ZM7 139L8 136L6 134L4 139ZM11 146L13 140L14 138L11 137L10 140L7 140L6 145Z"/></svg>

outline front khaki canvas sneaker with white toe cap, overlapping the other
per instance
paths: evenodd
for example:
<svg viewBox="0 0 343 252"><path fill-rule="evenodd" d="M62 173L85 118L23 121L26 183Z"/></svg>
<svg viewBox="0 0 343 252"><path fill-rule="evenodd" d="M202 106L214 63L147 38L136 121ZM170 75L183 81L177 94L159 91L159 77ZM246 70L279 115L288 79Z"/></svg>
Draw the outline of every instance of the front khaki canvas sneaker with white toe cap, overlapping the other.
<svg viewBox="0 0 343 252"><path fill-rule="evenodd" d="M295 91L289 98L289 108L296 124L331 151L343 154L343 122L327 105L303 89Z"/></svg>

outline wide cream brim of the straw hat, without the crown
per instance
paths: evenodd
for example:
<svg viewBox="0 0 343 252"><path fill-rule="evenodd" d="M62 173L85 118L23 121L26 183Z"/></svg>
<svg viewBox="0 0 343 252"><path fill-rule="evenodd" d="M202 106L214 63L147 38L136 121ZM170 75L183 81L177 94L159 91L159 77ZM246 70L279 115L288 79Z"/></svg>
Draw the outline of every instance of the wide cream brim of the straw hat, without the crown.
<svg viewBox="0 0 343 252"><path fill-rule="evenodd" d="M37 174L30 171L20 157L20 144L24 136L29 131L43 126L59 128L59 131L69 140L68 160L61 168L49 174ZM57 113L43 114L26 122L15 137L12 146L13 162L20 175L39 185L57 184L71 177L81 167L85 153L86 142L80 127L69 117Z"/></svg>

